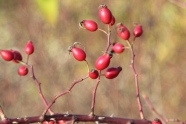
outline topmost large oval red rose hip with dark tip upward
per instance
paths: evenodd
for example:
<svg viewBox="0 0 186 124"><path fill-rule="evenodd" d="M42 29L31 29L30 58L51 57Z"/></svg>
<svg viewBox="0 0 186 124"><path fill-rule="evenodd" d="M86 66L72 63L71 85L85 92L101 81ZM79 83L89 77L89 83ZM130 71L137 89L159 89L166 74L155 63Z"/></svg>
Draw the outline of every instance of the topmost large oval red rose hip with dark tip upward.
<svg viewBox="0 0 186 124"><path fill-rule="evenodd" d="M112 13L106 5L99 6L98 15L100 20L105 24L109 24L112 21Z"/></svg>

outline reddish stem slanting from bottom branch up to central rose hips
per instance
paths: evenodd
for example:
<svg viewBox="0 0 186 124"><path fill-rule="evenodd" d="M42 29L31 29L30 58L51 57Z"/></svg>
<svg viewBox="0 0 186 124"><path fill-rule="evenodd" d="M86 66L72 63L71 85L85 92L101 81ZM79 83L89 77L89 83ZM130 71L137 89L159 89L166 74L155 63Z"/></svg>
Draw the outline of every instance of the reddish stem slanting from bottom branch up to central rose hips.
<svg viewBox="0 0 186 124"><path fill-rule="evenodd" d="M88 78L88 77L89 77L89 76L85 76L84 78L81 78L81 79L79 79L79 80L77 80L77 81L74 81L74 82L71 84L70 88L68 88L66 91L63 91L63 92L61 92L60 94L58 94L57 96L55 96L55 97L52 99L52 101L48 104L48 106L46 107L46 109L44 110L44 112L42 113L42 116L44 116L44 115L47 113L47 111L50 109L50 107L54 104L54 102L55 102L59 97L65 95L65 94L70 93L71 90L72 90L72 88L73 88L77 83L79 83L79 82L85 80L85 79Z"/></svg>

